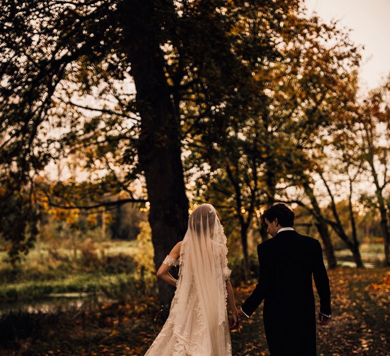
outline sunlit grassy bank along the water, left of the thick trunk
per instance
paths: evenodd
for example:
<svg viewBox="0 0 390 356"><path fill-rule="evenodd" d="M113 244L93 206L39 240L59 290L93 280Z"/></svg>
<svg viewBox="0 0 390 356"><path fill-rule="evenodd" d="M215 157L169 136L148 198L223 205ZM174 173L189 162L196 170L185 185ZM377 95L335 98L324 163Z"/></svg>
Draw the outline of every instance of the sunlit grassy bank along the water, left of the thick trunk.
<svg viewBox="0 0 390 356"><path fill-rule="evenodd" d="M38 244L15 268L5 263L2 252L0 302L39 300L63 293L113 294L120 288L133 288L137 294L154 281L137 275L136 251L137 241L103 242L80 248L75 257L73 250Z"/></svg>

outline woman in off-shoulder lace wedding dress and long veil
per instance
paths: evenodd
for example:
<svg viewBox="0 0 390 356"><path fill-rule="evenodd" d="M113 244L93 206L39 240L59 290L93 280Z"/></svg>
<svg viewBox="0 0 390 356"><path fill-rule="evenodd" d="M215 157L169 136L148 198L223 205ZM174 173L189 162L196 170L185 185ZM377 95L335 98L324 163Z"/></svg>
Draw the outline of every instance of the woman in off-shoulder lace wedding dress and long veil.
<svg viewBox="0 0 390 356"><path fill-rule="evenodd" d="M157 276L176 286L170 313L163 329L145 356L232 355L230 328L238 328L226 236L218 213L202 204L188 219L183 241L177 243L157 271ZM169 273L179 265L179 277Z"/></svg>

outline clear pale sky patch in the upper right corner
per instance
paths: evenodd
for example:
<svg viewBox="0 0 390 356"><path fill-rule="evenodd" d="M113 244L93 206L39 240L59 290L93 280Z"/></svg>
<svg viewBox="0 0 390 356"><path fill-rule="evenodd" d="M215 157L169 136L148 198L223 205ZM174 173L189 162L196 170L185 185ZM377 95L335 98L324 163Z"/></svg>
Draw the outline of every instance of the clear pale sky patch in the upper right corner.
<svg viewBox="0 0 390 356"><path fill-rule="evenodd" d="M364 45L360 69L361 91L380 85L390 72L390 0L306 0L327 23L339 19L339 26L352 28L350 39Z"/></svg>

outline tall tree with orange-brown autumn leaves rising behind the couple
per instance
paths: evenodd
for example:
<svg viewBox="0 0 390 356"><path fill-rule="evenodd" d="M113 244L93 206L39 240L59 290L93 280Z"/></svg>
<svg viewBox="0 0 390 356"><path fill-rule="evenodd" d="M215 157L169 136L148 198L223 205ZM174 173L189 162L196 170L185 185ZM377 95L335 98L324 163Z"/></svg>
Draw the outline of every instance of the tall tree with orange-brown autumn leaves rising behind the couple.
<svg viewBox="0 0 390 356"><path fill-rule="evenodd" d="M212 175L209 170L206 174L215 194L207 192L206 196L223 193L234 212L232 218L238 220L244 257L253 211L283 194L285 185L278 188L278 184L289 181L291 170L295 178L304 179L310 160L301 159L322 144L320 136L328 134L326 128L334 125L339 107L350 100L349 81L360 59L356 46L347 33L337 29L337 23L306 19L296 6L282 13L278 26L261 20L275 16L257 16L256 20L251 12L248 6L246 17L237 24L237 32L246 36L236 53L252 76L243 77L245 85L237 87L235 98L204 118L196 131L201 139L188 143L189 149L193 145L197 150L189 156L194 166L202 170L198 161L203 160L211 167ZM272 38L273 51L264 51L264 36ZM324 44L327 41L336 45L329 47ZM191 106L186 108L191 110ZM226 116L231 120L222 120ZM218 181L222 182L219 186ZM204 184L204 180L199 183ZM319 219L317 226L334 266L333 247L323 223ZM261 231L266 239L264 227Z"/></svg>

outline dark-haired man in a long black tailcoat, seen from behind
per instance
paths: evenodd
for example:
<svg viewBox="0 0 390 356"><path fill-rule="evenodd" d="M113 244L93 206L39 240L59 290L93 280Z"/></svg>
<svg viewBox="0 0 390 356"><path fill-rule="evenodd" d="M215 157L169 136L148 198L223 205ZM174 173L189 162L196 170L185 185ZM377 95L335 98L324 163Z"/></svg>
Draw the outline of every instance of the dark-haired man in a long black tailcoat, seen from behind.
<svg viewBox="0 0 390 356"><path fill-rule="evenodd" d="M295 214L284 204L263 215L272 239L257 246L259 278L240 314L250 317L264 300L263 316L272 356L316 355L312 275L320 298L318 320L331 317L331 290L318 240L294 230Z"/></svg>

